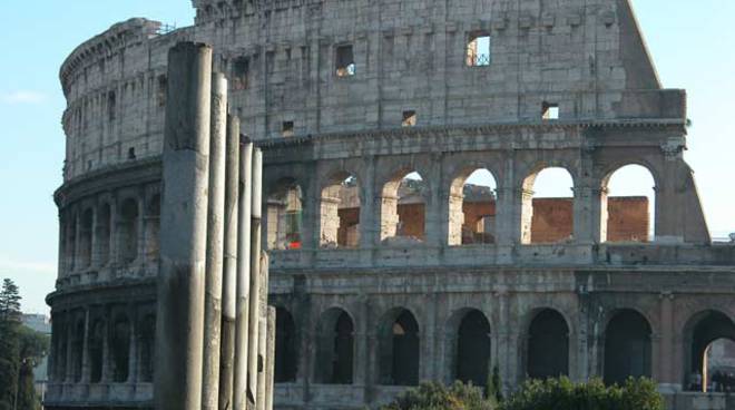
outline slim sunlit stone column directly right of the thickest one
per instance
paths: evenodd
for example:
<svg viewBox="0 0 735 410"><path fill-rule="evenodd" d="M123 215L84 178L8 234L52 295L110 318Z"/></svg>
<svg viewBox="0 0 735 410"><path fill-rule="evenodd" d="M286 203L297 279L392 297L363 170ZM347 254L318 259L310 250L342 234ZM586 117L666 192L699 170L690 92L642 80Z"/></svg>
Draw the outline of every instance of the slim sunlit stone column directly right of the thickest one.
<svg viewBox="0 0 735 410"><path fill-rule="evenodd" d="M219 72L212 76L210 125L202 408L217 410L219 399L219 331L224 263L223 243L225 240L225 155L227 140L227 80Z"/></svg>

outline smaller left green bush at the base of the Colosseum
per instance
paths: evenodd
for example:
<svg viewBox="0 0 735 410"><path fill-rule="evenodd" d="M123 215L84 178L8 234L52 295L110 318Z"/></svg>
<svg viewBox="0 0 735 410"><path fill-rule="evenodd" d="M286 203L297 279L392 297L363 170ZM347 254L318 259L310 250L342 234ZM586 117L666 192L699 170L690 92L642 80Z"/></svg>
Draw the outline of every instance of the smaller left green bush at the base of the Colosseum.
<svg viewBox="0 0 735 410"><path fill-rule="evenodd" d="M494 410L482 396L482 389L462 382L447 388L440 383L422 383L399 396L382 410Z"/></svg>

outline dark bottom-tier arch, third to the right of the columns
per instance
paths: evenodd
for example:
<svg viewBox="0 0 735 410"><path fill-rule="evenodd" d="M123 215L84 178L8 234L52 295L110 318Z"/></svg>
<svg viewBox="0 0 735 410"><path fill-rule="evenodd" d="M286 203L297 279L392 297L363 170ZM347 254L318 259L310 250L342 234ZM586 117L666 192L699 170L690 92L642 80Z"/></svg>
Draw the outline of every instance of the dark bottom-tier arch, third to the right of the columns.
<svg viewBox="0 0 735 410"><path fill-rule="evenodd" d="M398 308L384 315L380 335L380 380L386 385L419 384L419 323L411 311Z"/></svg>

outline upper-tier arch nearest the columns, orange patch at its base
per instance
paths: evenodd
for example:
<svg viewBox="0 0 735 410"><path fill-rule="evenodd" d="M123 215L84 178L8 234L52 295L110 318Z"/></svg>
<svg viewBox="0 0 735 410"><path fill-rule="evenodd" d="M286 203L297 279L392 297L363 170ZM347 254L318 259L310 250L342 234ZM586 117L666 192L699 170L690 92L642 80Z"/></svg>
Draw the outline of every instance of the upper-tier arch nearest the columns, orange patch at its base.
<svg viewBox="0 0 735 410"><path fill-rule="evenodd" d="M270 189L266 204L270 250L298 250L303 242L303 192L293 178L283 178Z"/></svg>

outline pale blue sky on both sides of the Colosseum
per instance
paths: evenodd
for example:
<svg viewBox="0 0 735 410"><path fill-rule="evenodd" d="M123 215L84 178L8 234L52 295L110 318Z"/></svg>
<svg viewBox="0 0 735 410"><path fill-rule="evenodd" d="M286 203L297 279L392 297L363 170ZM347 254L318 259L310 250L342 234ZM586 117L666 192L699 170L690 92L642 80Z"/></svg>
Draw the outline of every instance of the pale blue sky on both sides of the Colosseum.
<svg viewBox="0 0 735 410"><path fill-rule="evenodd" d="M689 150L710 231L735 232L735 1L634 0L664 87L689 95ZM65 107L58 80L80 42L130 17L178 27L189 0L3 0L0 6L0 279L27 312L48 312L57 265ZM628 178L636 189L650 188ZM615 189L615 188L614 188ZM615 191L614 191L615 192Z"/></svg>

